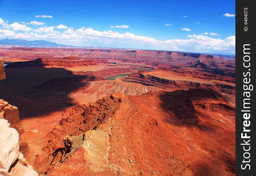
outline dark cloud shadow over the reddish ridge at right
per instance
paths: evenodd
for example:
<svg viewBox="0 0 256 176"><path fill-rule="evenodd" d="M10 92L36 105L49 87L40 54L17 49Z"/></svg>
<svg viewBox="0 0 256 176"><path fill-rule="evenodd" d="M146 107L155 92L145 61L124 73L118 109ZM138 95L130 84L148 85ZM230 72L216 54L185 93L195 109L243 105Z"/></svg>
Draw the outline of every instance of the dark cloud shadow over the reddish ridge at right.
<svg viewBox="0 0 256 176"><path fill-rule="evenodd" d="M162 110L166 111L170 116L176 119L172 121L172 123L175 123L177 126L196 126L202 131L215 131L216 128L214 125L200 123L200 119L198 118L198 115L200 114L196 111L194 104L198 104L200 109L205 109L207 106L206 104L211 103L212 101L220 100L225 102L222 95L211 88L164 92L159 97L162 101L160 105ZM219 106L223 106L223 109L235 111L234 108L226 104L219 103L217 106L218 108Z"/></svg>

